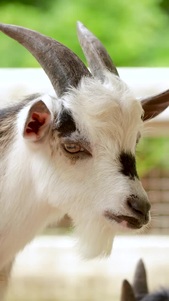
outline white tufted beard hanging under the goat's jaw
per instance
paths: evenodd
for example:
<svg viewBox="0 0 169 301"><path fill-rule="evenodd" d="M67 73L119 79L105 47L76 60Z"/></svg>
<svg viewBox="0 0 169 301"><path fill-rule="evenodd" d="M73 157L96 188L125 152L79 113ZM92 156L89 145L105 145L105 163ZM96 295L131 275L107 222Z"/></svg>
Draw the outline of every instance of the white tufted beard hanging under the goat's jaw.
<svg viewBox="0 0 169 301"><path fill-rule="evenodd" d="M102 219L81 219L74 225L74 235L78 237L75 248L83 259L110 256L115 233L112 233L112 228L108 228Z"/></svg>

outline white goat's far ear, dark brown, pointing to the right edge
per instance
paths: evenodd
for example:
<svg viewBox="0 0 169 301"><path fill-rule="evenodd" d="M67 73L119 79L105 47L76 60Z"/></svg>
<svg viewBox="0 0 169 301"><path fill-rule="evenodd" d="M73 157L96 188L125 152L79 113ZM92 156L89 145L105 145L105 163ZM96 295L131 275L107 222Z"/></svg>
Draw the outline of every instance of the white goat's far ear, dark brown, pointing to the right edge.
<svg viewBox="0 0 169 301"><path fill-rule="evenodd" d="M141 100L144 110L143 121L154 118L169 106L169 90Z"/></svg>

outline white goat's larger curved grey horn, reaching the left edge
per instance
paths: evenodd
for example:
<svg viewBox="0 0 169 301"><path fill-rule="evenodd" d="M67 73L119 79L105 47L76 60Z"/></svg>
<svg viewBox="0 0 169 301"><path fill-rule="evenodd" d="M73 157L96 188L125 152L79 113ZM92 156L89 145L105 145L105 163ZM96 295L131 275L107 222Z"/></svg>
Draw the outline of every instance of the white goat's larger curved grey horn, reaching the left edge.
<svg viewBox="0 0 169 301"><path fill-rule="evenodd" d="M58 96L82 76L91 75L79 57L65 45L34 30L0 23L0 30L22 44L41 65Z"/></svg>

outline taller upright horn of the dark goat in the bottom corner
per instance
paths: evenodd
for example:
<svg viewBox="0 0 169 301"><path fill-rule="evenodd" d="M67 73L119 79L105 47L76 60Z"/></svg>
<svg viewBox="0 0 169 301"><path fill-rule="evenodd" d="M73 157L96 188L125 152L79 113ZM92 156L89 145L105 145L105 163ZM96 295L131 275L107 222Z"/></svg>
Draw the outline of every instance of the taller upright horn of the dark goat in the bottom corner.
<svg viewBox="0 0 169 301"><path fill-rule="evenodd" d="M143 297L148 294L146 270L142 259L140 259L137 263L134 275L133 290L136 298Z"/></svg>

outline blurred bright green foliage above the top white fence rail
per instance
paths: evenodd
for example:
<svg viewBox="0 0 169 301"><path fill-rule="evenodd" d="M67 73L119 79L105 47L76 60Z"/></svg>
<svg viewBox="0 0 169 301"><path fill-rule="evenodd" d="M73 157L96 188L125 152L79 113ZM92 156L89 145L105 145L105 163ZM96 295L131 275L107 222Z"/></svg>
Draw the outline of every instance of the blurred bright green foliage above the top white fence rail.
<svg viewBox="0 0 169 301"><path fill-rule="evenodd" d="M76 35L83 22L117 66L169 66L168 0L0 0L2 23L51 36L85 63ZM0 67L39 67L29 52L0 33Z"/></svg>

